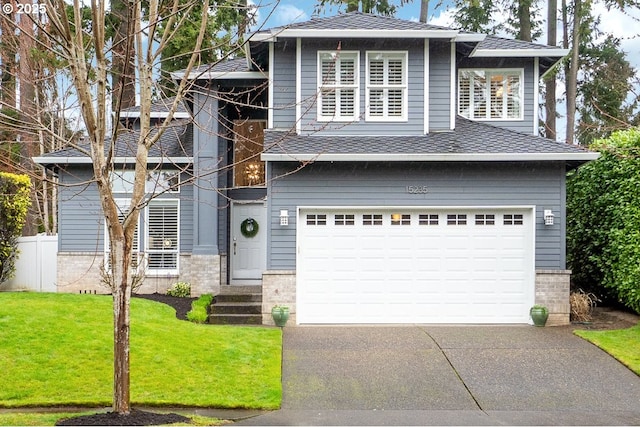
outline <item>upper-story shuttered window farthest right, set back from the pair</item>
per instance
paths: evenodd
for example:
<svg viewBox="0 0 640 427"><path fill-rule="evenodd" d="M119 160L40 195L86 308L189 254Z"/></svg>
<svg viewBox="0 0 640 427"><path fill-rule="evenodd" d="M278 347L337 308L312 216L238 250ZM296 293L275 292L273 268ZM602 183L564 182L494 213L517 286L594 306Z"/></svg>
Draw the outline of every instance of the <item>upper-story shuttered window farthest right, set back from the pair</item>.
<svg viewBox="0 0 640 427"><path fill-rule="evenodd" d="M475 120L522 120L522 70L460 70L458 114Z"/></svg>

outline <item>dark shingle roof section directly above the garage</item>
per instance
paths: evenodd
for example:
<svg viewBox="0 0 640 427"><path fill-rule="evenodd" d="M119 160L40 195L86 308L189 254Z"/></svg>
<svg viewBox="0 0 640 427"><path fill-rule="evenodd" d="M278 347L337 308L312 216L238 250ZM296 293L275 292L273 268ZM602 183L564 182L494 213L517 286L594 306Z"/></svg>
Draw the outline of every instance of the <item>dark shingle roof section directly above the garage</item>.
<svg viewBox="0 0 640 427"><path fill-rule="evenodd" d="M457 118L451 132L427 135L295 135L265 132L266 154L584 154L581 147Z"/></svg>

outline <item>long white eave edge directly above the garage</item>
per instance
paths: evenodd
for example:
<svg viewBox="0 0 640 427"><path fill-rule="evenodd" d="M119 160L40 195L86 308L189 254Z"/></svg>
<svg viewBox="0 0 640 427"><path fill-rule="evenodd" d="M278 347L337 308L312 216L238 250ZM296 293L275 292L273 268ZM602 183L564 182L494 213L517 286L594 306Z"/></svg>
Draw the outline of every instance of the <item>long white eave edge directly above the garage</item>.
<svg viewBox="0 0 640 427"><path fill-rule="evenodd" d="M379 162L540 162L595 160L600 153L464 153L464 154L423 154L423 153L263 153L264 161L272 162L339 162L339 161L379 161Z"/></svg>

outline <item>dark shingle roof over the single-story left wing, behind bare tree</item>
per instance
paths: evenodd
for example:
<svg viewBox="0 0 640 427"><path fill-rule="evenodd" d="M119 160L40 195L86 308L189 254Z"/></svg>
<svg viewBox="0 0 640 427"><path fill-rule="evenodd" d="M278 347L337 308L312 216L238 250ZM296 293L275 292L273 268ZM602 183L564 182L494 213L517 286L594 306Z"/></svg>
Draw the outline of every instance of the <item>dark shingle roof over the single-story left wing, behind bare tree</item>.
<svg viewBox="0 0 640 427"><path fill-rule="evenodd" d="M151 131L152 135L155 135L158 129ZM138 138L140 136L139 131L130 129L123 129L122 133L118 135L118 142L115 147L116 157L134 157L137 151ZM111 138L108 138L105 143L105 150L111 146ZM87 143L82 147L85 151L89 151L89 144ZM188 120L175 120L160 136L158 142L149 150L149 157L155 158L184 158L191 157L193 155L193 136L191 125ZM87 156L76 148L65 148L53 153L48 153L42 156L47 161L52 163L55 159L60 159L61 163L64 163L64 159L67 158L86 158Z"/></svg>

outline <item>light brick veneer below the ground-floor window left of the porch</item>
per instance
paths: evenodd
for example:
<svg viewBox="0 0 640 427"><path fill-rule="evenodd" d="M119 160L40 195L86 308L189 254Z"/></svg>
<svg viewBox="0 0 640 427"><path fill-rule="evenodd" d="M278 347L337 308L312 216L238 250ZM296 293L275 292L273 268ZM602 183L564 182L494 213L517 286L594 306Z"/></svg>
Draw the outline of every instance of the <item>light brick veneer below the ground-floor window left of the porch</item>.
<svg viewBox="0 0 640 427"><path fill-rule="evenodd" d="M109 294L102 283L100 266L103 254L86 252L58 252L57 291L67 293ZM166 293L175 282L191 283L191 296L220 292L219 255L180 255L180 275L147 276L135 290L141 294Z"/></svg>

